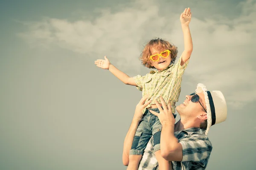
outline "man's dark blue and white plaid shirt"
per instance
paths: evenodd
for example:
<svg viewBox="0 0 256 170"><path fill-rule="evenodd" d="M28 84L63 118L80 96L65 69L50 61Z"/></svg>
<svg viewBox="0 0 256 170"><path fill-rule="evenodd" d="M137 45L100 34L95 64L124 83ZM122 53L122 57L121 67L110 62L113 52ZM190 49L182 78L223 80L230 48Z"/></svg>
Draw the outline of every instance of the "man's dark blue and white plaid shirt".
<svg viewBox="0 0 256 170"><path fill-rule="evenodd" d="M182 145L183 159L182 161L170 161L170 169L204 170L212 151L209 138L200 133L199 127L181 130L174 134ZM158 170L158 162L153 152L153 138L144 150L138 170Z"/></svg>

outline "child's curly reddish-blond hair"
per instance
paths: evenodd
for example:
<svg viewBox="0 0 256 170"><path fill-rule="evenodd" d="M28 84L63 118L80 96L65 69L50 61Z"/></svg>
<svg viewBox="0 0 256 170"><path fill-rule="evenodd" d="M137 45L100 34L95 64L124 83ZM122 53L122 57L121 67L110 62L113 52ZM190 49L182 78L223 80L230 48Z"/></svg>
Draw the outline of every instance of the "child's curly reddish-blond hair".
<svg viewBox="0 0 256 170"><path fill-rule="evenodd" d="M154 68L154 66L151 66L151 62L150 62L150 56L151 51L150 48L152 47L157 47L158 49L166 49L166 50L170 50L171 51L171 63L175 62L175 59L177 57L177 47L175 45L172 45L170 42L166 41L166 40L162 40L160 38L157 39L152 39L150 40L144 47L142 53L140 54L140 61L142 63L142 65L144 65L147 68Z"/></svg>

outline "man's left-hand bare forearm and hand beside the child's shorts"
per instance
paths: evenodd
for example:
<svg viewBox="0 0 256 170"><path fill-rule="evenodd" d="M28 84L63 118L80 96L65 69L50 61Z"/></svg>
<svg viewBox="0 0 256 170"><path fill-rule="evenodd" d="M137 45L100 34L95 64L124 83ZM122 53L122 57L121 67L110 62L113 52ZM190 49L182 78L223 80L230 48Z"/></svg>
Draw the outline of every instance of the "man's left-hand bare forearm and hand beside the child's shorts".
<svg viewBox="0 0 256 170"><path fill-rule="evenodd" d="M145 103L147 98L148 98L148 95L145 95L142 99L140 99L140 102L137 104L134 117L131 122L131 126L125 136L125 142L124 142L123 154L122 154L122 162L125 166L128 166L129 164L129 153L131 150L131 145L134 139L134 135L141 119L143 118L142 111L151 102L151 100L149 100L148 102Z"/></svg>

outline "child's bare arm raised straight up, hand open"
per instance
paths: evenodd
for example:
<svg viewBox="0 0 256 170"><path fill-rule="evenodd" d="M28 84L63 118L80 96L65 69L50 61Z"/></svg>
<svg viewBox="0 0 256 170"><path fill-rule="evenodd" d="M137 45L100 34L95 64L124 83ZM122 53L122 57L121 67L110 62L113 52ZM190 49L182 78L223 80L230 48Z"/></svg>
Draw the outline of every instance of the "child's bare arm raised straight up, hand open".
<svg viewBox="0 0 256 170"><path fill-rule="evenodd" d="M192 38L189 30L189 23L191 20L190 8L185 8L183 13L180 14L180 23L184 36L184 51L181 57L180 65L183 65L191 56L193 50Z"/></svg>

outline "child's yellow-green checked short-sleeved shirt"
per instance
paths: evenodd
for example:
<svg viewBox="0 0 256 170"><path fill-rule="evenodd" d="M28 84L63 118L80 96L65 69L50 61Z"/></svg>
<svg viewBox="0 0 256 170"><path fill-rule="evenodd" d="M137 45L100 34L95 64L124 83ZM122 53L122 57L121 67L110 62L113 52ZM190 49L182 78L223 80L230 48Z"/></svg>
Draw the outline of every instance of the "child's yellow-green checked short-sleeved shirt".
<svg viewBox="0 0 256 170"><path fill-rule="evenodd" d="M175 113L175 102L178 101L180 96L182 75L189 63L189 59L182 66L180 62L181 57L175 65L171 64L162 71L154 70L145 76L137 75L134 77L137 89L142 91L142 96L149 94L145 102L152 99L152 102L146 108L155 104L154 100L161 103L160 96L162 96L166 101L166 105L169 101L171 102L172 113ZM145 113L146 108L143 113Z"/></svg>

